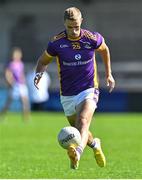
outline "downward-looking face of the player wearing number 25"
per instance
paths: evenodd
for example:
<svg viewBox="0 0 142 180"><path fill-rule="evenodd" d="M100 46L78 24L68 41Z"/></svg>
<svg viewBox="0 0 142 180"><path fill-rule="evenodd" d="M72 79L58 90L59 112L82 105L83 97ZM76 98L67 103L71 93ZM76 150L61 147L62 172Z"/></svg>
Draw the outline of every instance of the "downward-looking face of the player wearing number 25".
<svg viewBox="0 0 142 180"><path fill-rule="evenodd" d="M82 18L76 20L66 20L64 25L69 38L75 39L80 36Z"/></svg>

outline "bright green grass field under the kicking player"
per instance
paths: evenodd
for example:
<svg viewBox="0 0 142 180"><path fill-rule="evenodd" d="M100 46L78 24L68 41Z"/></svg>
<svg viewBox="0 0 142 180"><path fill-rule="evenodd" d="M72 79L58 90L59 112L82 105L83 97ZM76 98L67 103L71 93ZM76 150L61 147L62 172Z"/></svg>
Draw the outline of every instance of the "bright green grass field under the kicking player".
<svg viewBox="0 0 142 180"><path fill-rule="evenodd" d="M78 170L70 170L57 142L68 125L62 113L33 113L29 123L9 113L0 123L0 178L142 179L142 114L97 113L91 130L102 139L107 166L99 168L88 147Z"/></svg>

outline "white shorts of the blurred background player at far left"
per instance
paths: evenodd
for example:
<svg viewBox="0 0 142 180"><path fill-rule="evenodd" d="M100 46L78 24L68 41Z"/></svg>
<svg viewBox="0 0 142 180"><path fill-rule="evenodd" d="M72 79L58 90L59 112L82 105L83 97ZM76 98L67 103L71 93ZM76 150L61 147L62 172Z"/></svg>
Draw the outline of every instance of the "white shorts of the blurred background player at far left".
<svg viewBox="0 0 142 180"><path fill-rule="evenodd" d="M28 88L25 84L14 84L11 89L11 96L13 99L19 99L21 97L28 97Z"/></svg>

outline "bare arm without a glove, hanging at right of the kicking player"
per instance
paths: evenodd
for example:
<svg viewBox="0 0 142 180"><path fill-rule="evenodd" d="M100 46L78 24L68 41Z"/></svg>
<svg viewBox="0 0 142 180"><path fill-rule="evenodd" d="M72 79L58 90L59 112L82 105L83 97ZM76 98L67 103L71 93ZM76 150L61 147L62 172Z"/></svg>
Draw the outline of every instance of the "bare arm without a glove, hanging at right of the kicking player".
<svg viewBox="0 0 142 180"><path fill-rule="evenodd" d="M112 76L110 51L104 40L101 46L97 49L97 51L100 53L103 62L105 64L107 86L109 86L110 88L109 92L111 92L115 87L115 80Z"/></svg>

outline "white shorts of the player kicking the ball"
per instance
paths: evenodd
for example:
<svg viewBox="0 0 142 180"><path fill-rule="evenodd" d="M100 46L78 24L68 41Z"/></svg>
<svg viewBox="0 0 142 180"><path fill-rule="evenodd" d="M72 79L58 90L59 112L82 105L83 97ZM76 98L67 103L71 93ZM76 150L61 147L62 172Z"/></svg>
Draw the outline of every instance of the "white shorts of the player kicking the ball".
<svg viewBox="0 0 142 180"><path fill-rule="evenodd" d="M97 102L99 99L99 90L95 88L89 88L74 96L61 96L61 104L66 116L71 116L76 113L76 106L79 105L85 99L91 99L94 110L97 108Z"/></svg>

